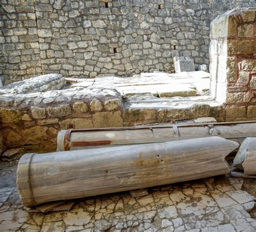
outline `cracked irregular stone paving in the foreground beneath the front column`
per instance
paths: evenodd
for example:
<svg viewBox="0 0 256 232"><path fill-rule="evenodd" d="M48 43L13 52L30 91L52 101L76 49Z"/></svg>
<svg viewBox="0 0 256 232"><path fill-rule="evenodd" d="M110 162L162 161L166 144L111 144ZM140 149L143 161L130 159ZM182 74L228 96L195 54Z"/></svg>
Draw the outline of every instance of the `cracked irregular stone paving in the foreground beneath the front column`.
<svg viewBox="0 0 256 232"><path fill-rule="evenodd" d="M15 187L16 165L2 163L0 170L0 231L256 231L250 179L219 176L149 188L139 198L123 192L79 199L70 212L29 214ZM242 190L245 182L254 196Z"/></svg>

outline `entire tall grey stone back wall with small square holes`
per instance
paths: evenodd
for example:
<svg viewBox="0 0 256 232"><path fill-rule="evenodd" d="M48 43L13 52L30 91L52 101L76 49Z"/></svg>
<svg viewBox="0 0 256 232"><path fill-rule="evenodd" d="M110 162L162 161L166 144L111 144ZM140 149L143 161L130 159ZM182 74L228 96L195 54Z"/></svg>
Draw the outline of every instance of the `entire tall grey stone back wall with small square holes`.
<svg viewBox="0 0 256 232"><path fill-rule="evenodd" d="M254 0L2 1L5 83L65 76L173 72L174 56L208 64L210 22Z"/></svg>

